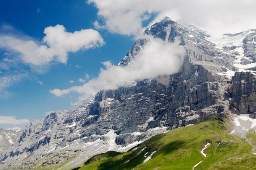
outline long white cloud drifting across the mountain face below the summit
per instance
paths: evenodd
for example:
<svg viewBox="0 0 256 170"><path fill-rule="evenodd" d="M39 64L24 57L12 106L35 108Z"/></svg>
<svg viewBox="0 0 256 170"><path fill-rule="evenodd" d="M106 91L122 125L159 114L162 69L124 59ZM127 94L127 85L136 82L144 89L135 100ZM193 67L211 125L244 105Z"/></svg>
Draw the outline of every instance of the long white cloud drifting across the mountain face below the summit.
<svg viewBox="0 0 256 170"><path fill-rule="evenodd" d="M123 83L131 85L136 80L173 74L180 70L185 55L185 48L179 44L180 40L171 43L149 37L146 45L135 56L134 64L121 67L106 61L103 63L105 69L100 70L97 78L91 79L82 86L63 90L54 89L50 90L50 93L56 96L63 96L70 92L81 93L79 102L75 103L79 104L102 89L117 89Z"/></svg>

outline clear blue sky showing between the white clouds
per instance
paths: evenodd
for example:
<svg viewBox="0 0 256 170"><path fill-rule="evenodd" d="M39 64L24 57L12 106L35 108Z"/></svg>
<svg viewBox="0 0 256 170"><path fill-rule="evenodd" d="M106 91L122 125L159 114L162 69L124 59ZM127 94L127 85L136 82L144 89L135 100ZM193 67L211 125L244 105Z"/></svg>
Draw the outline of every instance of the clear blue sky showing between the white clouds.
<svg viewBox="0 0 256 170"><path fill-rule="evenodd" d="M50 4L50 5L49 5ZM87 4L84 0L26 0L5 1L0 5L0 24L13 26L17 32L33 37L39 41L44 37L44 28L62 24L68 32L93 28L93 21L97 19L97 8ZM81 85L78 79L86 80L85 73L90 78L97 76L103 61L111 60L117 64L132 46L134 40L131 36L118 35L99 30L105 45L89 50L79 50L68 54L66 64L57 63L49 67L42 74L25 71L29 77L11 85L8 92L10 98L0 99L0 115L15 116L16 119L40 119L45 112L58 109L70 109L71 102L75 101L77 94L56 97L49 93L53 88L68 88L72 85ZM19 33L19 34L20 34ZM0 59L6 58L2 50ZM76 65L79 65L76 67ZM0 75L1 76L1 75ZM89 78L89 79L90 79ZM40 85L37 82L43 82ZM88 81L88 80L86 80ZM17 125L24 128L23 125ZM0 128L13 127L12 124L0 124Z"/></svg>

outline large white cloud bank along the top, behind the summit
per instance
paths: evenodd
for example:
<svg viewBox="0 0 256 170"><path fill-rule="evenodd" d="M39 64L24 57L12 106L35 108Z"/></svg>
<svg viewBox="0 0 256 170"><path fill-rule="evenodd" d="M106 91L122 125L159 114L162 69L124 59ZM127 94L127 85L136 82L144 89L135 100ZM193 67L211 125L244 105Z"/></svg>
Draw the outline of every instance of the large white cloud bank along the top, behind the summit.
<svg viewBox="0 0 256 170"><path fill-rule="evenodd" d="M143 21L151 14L157 19L168 15L194 24L212 35L256 28L254 0L88 0L98 8L94 26L125 35L140 35ZM113 5L114 4L114 5Z"/></svg>

